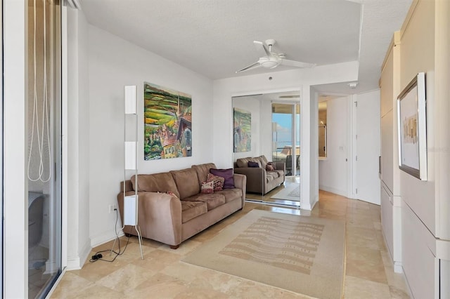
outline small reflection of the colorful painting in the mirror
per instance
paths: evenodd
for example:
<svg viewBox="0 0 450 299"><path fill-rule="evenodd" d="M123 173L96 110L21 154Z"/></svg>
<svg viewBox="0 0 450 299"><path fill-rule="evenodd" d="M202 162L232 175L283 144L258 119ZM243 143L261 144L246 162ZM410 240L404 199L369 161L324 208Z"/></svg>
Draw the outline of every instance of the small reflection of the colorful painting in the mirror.
<svg viewBox="0 0 450 299"><path fill-rule="evenodd" d="M243 109L233 109L233 152L252 150L252 113Z"/></svg>

